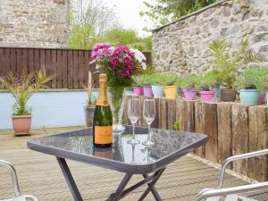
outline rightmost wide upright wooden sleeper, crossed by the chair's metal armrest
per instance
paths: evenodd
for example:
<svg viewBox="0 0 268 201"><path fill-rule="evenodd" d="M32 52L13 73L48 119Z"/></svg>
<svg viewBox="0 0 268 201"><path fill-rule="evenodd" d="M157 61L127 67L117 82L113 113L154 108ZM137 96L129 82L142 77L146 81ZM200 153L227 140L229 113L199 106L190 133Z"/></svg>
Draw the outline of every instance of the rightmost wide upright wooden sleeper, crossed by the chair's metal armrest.
<svg viewBox="0 0 268 201"><path fill-rule="evenodd" d="M268 148L268 107L251 106L248 109L248 152ZM247 176L259 181L268 179L267 155L249 158Z"/></svg>

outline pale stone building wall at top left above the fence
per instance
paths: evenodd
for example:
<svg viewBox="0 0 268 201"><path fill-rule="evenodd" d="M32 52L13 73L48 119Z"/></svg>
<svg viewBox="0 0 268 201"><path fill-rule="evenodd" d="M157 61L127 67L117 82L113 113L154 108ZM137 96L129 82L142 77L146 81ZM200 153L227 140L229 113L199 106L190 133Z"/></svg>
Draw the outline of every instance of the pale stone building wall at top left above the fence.
<svg viewBox="0 0 268 201"><path fill-rule="evenodd" d="M68 47L69 0L1 0L0 46Z"/></svg>

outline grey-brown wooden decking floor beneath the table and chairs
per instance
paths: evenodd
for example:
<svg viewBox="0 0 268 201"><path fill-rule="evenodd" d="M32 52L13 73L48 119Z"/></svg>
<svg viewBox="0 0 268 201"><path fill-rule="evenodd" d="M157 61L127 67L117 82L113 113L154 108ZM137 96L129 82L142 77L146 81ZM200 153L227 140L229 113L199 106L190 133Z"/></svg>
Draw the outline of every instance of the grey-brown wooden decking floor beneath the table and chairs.
<svg viewBox="0 0 268 201"><path fill-rule="evenodd" d="M61 128L47 130L32 130L30 137L13 137L12 130L0 130L0 159L14 164L22 194L38 197L40 201L72 201L71 193L63 178L63 174L51 155L44 155L27 149L29 138L42 135L75 130L78 128ZM118 186L123 174L108 171L83 163L70 163L71 172L81 190L85 200L103 201ZM167 167L163 177L156 185L164 200L191 201L202 188L214 188L218 178L218 171L192 157L185 156ZM140 178L135 177L132 181ZM245 181L227 175L225 183L228 186L245 184ZM125 201L136 201L142 191L125 197ZM13 197L10 175L4 168L0 168L0 200ZM152 196L146 200L154 200ZM265 197L260 200L267 200Z"/></svg>

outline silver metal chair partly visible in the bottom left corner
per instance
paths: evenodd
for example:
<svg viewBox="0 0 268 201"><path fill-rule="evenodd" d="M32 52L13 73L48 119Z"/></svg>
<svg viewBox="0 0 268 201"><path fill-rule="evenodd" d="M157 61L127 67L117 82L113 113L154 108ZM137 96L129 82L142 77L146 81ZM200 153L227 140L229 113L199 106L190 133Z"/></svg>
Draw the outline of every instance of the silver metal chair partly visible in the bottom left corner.
<svg viewBox="0 0 268 201"><path fill-rule="evenodd" d="M21 196L17 173L16 173L16 170L11 163L0 160L0 165L4 165L10 170L11 175L12 175L12 179L13 179L13 188L14 188L14 194L15 194L15 197L10 198L10 199L4 199L1 201L26 201L26 200L38 201L38 199L36 197Z"/></svg>

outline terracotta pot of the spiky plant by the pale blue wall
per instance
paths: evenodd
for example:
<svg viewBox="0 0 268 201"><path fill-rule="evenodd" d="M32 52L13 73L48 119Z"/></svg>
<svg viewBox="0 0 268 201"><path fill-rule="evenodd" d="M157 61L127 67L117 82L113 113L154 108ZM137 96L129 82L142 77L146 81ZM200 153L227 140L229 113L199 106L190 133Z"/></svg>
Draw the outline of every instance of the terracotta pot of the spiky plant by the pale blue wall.
<svg viewBox="0 0 268 201"><path fill-rule="evenodd" d="M12 120L15 135L29 134L31 115L13 115Z"/></svg>

